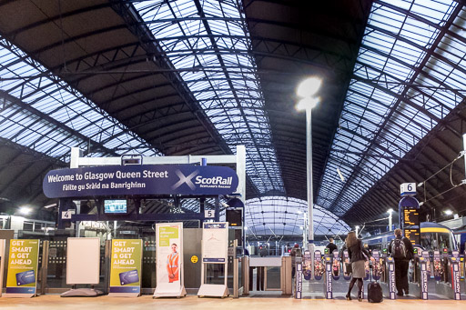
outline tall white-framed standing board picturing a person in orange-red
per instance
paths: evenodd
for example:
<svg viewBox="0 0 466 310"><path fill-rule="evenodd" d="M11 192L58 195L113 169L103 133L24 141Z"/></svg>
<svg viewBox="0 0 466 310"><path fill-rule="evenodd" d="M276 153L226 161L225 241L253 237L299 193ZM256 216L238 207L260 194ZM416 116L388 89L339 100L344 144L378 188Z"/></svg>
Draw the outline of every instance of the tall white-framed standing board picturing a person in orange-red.
<svg viewBox="0 0 466 310"><path fill-rule="evenodd" d="M183 273L183 223L156 225L157 287L154 297L186 295Z"/></svg>

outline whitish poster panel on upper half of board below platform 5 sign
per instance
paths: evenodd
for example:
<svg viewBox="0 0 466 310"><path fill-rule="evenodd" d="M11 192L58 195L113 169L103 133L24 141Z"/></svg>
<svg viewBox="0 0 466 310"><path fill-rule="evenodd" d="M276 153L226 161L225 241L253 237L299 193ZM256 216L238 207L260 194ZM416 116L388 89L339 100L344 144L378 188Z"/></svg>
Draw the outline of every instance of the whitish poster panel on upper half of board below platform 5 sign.
<svg viewBox="0 0 466 310"><path fill-rule="evenodd" d="M228 223L204 223L202 262L225 263L228 258Z"/></svg>

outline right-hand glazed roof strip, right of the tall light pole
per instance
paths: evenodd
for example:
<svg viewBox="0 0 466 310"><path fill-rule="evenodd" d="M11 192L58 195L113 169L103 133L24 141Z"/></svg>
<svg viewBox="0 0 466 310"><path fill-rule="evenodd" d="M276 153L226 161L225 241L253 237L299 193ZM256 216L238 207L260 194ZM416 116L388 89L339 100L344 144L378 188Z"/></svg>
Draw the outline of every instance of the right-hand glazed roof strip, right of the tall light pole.
<svg viewBox="0 0 466 310"><path fill-rule="evenodd" d="M465 24L456 1L374 1L319 205L344 215L464 100Z"/></svg>

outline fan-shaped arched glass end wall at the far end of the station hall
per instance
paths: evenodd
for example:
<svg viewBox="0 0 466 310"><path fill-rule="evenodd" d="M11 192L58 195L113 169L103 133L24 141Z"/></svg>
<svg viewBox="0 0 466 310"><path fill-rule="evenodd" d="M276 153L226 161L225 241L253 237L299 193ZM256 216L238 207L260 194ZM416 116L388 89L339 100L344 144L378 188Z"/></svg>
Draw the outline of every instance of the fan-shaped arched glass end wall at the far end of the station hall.
<svg viewBox="0 0 466 310"><path fill-rule="evenodd" d="M268 196L246 202L245 225L248 235L302 235L308 211L306 201ZM345 235L349 225L329 211L314 205L315 235Z"/></svg>

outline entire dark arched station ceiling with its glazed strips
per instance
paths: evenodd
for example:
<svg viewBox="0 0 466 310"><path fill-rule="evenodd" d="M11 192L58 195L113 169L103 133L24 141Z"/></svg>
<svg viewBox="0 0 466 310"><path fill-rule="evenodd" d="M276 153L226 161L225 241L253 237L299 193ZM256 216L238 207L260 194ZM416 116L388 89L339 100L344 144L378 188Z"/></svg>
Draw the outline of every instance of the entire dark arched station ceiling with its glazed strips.
<svg viewBox="0 0 466 310"><path fill-rule="evenodd" d="M429 179L423 216L463 215L465 24L464 3L447 0L1 1L0 204L43 212L42 178L70 146L152 156L246 145L248 226L283 225L293 206L257 202L307 199L295 90L318 75L314 202L336 218L319 234L337 234L336 221L380 226L404 182ZM285 226L297 234L302 222Z"/></svg>

